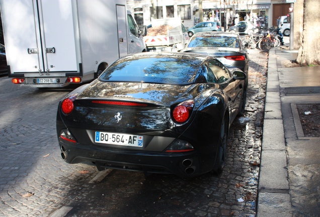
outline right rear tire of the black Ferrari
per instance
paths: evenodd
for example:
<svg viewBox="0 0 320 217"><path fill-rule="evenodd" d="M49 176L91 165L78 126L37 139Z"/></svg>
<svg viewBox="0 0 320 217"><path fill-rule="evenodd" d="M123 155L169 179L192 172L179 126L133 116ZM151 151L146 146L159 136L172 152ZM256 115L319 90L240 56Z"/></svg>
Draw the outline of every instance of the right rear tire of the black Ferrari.
<svg viewBox="0 0 320 217"><path fill-rule="evenodd" d="M221 123L221 130L220 130L220 138L219 138L219 148L218 153L216 155L215 166L212 170L213 173L221 173L225 161L226 161L226 146L228 141L228 131L229 131L229 122L227 116L224 116L222 123Z"/></svg>

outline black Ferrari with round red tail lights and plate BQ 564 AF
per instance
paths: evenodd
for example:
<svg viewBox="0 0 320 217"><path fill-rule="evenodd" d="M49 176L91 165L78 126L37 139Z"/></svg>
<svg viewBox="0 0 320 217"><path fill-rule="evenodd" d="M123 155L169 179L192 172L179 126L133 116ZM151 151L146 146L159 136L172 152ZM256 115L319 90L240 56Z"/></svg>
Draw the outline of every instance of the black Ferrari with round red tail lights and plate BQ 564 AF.
<svg viewBox="0 0 320 217"><path fill-rule="evenodd" d="M173 173L221 171L229 126L244 110L244 79L217 59L188 53L120 58L58 105L67 163Z"/></svg>

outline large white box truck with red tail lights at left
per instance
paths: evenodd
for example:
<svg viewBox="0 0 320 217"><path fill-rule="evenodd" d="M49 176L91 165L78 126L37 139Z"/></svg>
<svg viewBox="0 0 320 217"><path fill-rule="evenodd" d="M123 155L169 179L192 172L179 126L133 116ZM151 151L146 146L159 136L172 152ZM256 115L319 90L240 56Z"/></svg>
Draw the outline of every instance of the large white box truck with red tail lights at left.
<svg viewBox="0 0 320 217"><path fill-rule="evenodd" d="M22 87L93 80L146 51L126 0L0 0L9 77Z"/></svg>

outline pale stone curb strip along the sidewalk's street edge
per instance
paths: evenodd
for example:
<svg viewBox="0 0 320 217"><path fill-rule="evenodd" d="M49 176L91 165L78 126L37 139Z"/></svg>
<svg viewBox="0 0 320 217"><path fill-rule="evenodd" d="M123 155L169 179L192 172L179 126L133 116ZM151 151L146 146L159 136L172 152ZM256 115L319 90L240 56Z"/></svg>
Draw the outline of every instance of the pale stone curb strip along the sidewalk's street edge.
<svg viewBox="0 0 320 217"><path fill-rule="evenodd" d="M275 49L268 60L257 217L292 216Z"/></svg>

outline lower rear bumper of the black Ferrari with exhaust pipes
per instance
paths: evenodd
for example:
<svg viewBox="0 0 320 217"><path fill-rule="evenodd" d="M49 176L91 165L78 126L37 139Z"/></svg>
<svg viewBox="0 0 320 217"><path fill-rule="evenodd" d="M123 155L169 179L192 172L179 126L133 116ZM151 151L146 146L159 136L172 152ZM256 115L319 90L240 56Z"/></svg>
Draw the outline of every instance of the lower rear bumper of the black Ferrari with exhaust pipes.
<svg viewBox="0 0 320 217"><path fill-rule="evenodd" d="M106 168L141 171L149 173L176 174L180 177L193 177L212 170L214 157L199 158L197 151L185 153L140 152L135 150L110 149L100 146L71 144L59 140L61 157L74 164L93 162L98 170ZM208 164L208 160L212 161Z"/></svg>

